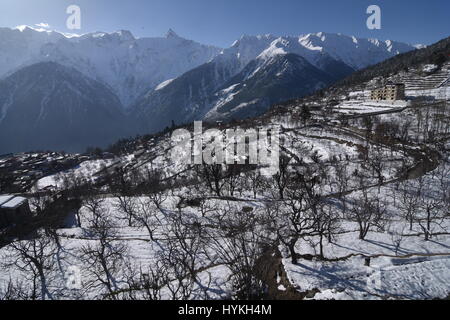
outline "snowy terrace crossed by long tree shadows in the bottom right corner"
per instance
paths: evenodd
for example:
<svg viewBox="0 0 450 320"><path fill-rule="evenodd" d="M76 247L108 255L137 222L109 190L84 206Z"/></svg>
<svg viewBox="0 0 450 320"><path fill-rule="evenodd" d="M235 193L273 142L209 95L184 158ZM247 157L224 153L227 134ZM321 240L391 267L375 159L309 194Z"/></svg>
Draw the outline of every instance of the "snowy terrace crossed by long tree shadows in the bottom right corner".
<svg viewBox="0 0 450 320"><path fill-rule="evenodd" d="M365 266L360 256L338 262L283 261L293 285L320 290L317 300L435 299L450 290L450 255L398 259L377 257Z"/></svg>

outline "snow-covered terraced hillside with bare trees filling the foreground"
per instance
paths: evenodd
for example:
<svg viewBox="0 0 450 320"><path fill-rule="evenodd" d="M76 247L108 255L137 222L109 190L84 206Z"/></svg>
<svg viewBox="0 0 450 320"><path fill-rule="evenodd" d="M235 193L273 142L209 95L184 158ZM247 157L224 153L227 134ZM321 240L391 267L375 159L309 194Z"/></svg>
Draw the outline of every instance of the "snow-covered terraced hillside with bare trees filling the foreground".
<svg viewBox="0 0 450 320"><path fill-rule="evenodd" d="M270 144L242 139L233 152L279 147L274 175L264 174L264 163L243 164L247 154L233 154L229 164L184 162L196 149L175 148L172 128L122 140L111 153L96 151L94 159L40 178L25 192L39 211L23 227L37 236L29 239L18 227L3 231L0 257L8 272L0 274L0 297L31 295L31 282L13 282L29 276L20 256L29 246L48 253L39 298L448 297L450 108L435 92L429 96L447 90L448 63L430 65L430 48L405 62L407 73L377 72L257 118L204 124L221 134L270 131ZM296 55L283 58L283 66L324 77ZM367 87L400 76L416 79L409 102L367 99ZM210 141L200 152L217 159L226 147L212 152ZM57 200L42 201L51 198ZM97 260L105 256L106 264ZM84 285L68 289L60 269L74 265Z"/></svg>

